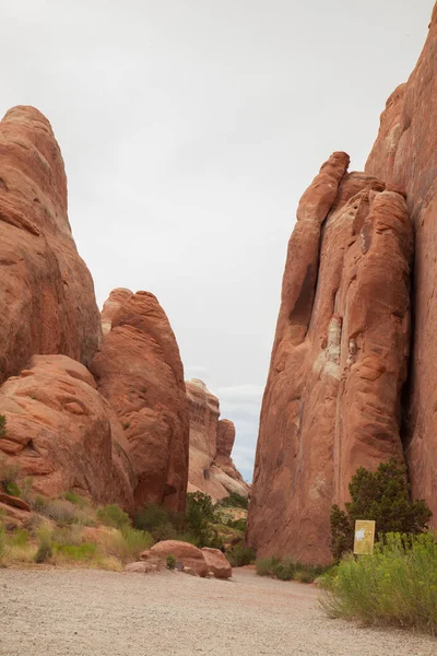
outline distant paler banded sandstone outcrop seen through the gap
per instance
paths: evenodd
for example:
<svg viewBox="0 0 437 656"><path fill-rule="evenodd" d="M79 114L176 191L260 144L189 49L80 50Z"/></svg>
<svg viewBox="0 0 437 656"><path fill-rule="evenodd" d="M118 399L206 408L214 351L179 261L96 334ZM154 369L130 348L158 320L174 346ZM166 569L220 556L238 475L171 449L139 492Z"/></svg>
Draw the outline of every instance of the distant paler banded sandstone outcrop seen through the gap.
<svg viewBox="0 0 437 656"><path fill-rule="evenodd" d="M218 399L202 380L188 380L186 388L190 413L188 491L200 490L215 501L231 492L248 496L249 485L231 458L235 441L233 422L218 420Z"/></svg>

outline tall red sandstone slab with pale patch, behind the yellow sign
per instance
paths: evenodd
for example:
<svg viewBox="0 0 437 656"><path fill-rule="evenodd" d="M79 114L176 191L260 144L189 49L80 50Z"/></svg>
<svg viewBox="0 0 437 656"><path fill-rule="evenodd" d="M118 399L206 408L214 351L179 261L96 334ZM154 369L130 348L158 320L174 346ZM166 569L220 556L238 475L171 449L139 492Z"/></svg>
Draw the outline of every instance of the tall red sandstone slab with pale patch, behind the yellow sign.
<svg viewBox="0 0 437 656"><path fill-rule="evenodd" d="M351 476L403 457L412 227L395 187L347 166L323 164L288 245L248 519L259 555L329 562Z"/></svg>

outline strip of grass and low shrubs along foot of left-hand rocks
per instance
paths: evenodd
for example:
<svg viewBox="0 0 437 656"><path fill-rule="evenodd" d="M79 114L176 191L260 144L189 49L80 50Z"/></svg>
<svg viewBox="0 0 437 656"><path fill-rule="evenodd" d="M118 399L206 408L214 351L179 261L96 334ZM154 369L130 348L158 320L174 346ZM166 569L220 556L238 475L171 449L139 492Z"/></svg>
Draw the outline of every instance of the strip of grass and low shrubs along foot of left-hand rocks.
<svg viewBox="0 0 437 656"><path fill-rule="evenodd" d="M32 508L20 529L0 514L2 566L49 563L121 570L155 542L168 539L228 551L235 565L253 561L252 551L243 547L246 509L238 499L237 507L214 506L211 496L196 492L187 495L184 514L150 504L131 518L117 504L96 507L71 490L46 499L32 491L32 480L21 479L20 485L17 480L19 470L0 462L0 489ZM167 566L173 567L172 559Z"/></svg>

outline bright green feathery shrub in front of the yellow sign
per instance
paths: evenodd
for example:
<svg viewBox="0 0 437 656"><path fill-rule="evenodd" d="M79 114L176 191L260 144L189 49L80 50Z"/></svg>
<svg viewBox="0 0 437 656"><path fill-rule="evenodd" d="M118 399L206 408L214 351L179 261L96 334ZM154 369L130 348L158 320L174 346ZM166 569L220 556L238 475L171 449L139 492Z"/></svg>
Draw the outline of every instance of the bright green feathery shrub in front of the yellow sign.
<svg viewBox="0 0 437 656"><path fill-rule="evenodd" d="M321 604L331 617L436 635L436 536L388 534L373 555L346 557L322 587Z"/></svg>

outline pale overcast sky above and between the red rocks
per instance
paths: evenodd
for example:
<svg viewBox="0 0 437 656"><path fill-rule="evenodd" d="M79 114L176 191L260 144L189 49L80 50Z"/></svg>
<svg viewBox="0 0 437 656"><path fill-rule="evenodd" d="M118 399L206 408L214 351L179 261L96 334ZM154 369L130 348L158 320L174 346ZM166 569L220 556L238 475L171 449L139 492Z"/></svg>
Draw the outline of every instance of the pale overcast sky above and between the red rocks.
<svg viewBox="0 0 437 656"><path fill-rule="evenodd" d="M433 0L0 0L0 110L51 121L97 301L156 294L251 477L297 201L361 169Z"/></svg>

